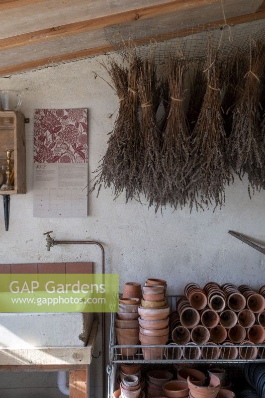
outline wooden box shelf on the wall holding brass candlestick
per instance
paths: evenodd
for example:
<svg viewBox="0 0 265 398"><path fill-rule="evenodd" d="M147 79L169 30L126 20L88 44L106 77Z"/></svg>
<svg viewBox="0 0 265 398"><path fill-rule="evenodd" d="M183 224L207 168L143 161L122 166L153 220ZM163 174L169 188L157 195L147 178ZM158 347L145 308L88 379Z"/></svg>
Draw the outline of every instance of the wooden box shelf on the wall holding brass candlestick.
<svg viewBox="0 0 265 398"><path fill-rule="evenodd" d="M0 111L0 164L6 165L6 150L13 149L14 190L0 191L1 195L26 193L25 118L23 113Z"/></svg>

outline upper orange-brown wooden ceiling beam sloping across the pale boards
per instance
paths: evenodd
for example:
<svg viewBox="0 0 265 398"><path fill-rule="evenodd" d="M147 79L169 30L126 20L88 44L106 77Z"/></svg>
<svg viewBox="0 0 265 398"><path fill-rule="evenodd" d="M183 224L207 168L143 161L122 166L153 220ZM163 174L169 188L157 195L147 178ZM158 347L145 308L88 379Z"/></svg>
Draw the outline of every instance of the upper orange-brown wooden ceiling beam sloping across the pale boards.
<svg viewBox="0 0 265 398"><path fill-rule="evenodd" d="M82 22L55 26L49 29L38 30L35 32L24 33L21 35L0 39L0 51L30 44L43 43L61 37L89 32L95 29L102 29L105 26L120 23L132 23L135 20L149 19L185 9L188 12L190 8L196 9L203 7L206 4L216 4L219 2L220 0L196 0L196 2L194 0L174 0L112 15L106 15L104 17L88 19Z"/></svg>

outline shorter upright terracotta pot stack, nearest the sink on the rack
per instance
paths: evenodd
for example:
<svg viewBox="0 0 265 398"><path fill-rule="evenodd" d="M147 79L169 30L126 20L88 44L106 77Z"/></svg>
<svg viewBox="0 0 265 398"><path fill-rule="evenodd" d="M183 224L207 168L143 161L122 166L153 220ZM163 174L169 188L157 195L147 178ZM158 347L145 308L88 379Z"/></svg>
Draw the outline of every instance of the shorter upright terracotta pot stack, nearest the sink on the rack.
<svg viewBox="0 0 265 398"><path fill-rule="evenodd" d="M122 297L119 300L119 312L115 319L115 331L119 345L139 344L139 314L138 307L141 303L141 285L136 282L125 284ZM122 358L132 357L137 353L137 348L122 348Z"/></svg>

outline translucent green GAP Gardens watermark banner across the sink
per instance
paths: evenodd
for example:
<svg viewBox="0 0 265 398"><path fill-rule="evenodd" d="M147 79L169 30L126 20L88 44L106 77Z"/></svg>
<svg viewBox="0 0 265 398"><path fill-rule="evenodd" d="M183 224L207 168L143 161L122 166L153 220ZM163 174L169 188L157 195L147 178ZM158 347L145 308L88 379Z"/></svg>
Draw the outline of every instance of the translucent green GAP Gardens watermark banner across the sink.
<svg viewBox="0 0 265 398"><path fill-rule="evenodd" d="M118 312L119 274L1 274L0 312Z"/></svg>

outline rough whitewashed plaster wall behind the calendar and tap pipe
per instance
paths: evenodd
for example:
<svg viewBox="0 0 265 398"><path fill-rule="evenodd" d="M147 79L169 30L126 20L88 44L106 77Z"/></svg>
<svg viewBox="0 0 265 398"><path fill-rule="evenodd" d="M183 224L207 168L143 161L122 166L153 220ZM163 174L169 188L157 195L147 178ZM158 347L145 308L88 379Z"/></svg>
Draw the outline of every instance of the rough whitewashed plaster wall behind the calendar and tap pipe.
<svg viewBox="0 0 265 398"><path fill-rule="evenodd" d="M93 71L109 80L98 63L101 60L97 57L0 78L1 89L23 92L21 110L30 118L30 124L26 124L27 194L11 198L8 232L4 231L3 217L0 220L1 262L93 261L96 271L100 271L97 248L58 246L47 252L42 234L53 230L57 239L101 241L106 250L106 272L118 272L121 287L126 281L143 283L148 276L167 279L169 293L182 293L190 281L202 285L209 280L249 283L253 287L264 284L264 256L228 234L233 229L265 241L265 193L256 194L251 200L246 180L242 184L235 179L235 184L226 190L222 210L216 209L214 213L190 214L188 209L172 212L166 208L163 216L155 216L146 205L136 201L125 204L123 196L113 201L111 191L102 190L98 199L95 193L89 196L88 218L32 217L33 109L88 108L90 179L107 147L107 133L115 117L109 115L118 106L111 88L99 77L94 78ZM95 371L92 383L99 397L102 372L98 367ZM39 390L32 389L36 386ZM8 392L9 387L12 391ZM55 375L0 374L1 388L2 398L60 396Z"/></svg>

